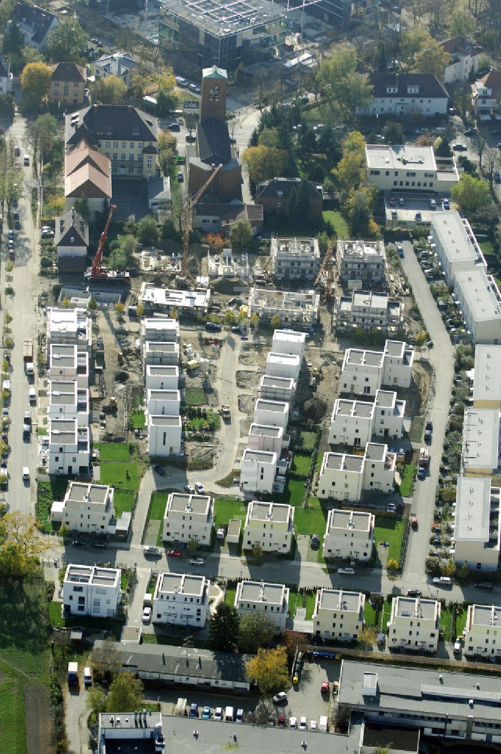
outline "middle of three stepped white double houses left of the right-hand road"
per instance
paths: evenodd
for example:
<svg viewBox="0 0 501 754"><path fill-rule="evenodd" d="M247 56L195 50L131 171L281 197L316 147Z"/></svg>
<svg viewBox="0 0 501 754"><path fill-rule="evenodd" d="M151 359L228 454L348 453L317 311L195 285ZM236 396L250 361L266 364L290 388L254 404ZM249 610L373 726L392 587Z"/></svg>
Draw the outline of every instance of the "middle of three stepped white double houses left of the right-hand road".
<svg viewBox="0 0 501 754"><path fill-rule="evenodd" d="M378 390L372 403L336 398L328 442L365 446L375 434L398 440L404 431L405 400L393 391Z"/></svg>

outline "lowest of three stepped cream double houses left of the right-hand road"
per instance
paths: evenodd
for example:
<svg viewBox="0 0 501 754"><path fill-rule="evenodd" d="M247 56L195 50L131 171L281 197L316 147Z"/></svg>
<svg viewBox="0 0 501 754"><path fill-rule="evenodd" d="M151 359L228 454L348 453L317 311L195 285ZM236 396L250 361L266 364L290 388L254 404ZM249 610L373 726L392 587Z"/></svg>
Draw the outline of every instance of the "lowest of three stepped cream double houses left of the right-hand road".
<svg viewBox="0 0 501 754"><path fill-rule="evenodd" d="M362 492L391 494L396 453L387 445L367 443L364 455L326 452L319 474L319 498L358 502Z"/></svg>

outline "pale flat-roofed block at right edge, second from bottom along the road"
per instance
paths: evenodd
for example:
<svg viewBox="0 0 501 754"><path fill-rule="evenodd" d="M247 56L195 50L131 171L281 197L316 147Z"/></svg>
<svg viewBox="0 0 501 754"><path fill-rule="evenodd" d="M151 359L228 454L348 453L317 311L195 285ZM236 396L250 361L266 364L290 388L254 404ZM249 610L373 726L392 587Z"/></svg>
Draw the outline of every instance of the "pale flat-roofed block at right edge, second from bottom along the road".
<svg viewBox="0 0 501 754"><path fill-rule="evenodd" d="M499 411L465 409L462 465L466 477L489 477L499 468Z"/></svg>

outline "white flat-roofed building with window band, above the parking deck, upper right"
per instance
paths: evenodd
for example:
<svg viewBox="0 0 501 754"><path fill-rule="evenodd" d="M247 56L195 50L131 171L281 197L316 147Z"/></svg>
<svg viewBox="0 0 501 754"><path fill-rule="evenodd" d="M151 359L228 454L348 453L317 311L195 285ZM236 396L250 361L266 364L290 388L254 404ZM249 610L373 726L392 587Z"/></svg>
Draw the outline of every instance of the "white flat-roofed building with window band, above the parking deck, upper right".
<svg viewBox="0 0 501 754"><path fill-rule="evenodd" d="M436 157L432 146L365 145L367 177L383 192L449 194L460 179L454 157Z"/></svg>

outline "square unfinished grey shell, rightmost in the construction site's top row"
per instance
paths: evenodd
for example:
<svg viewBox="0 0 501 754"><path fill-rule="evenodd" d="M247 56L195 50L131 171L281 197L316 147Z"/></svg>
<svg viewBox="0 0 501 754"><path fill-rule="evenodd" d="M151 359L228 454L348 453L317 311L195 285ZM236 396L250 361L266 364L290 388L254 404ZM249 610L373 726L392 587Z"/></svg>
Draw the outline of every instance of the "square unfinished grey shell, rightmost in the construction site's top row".
<svg viewBox="0 0 501 754"><path fill-rule="evenodd" d="M339 238L336 264L339 279L344 283L356 281L360 286L377 287L385 282L384 241L347 241Z"/></svg>

